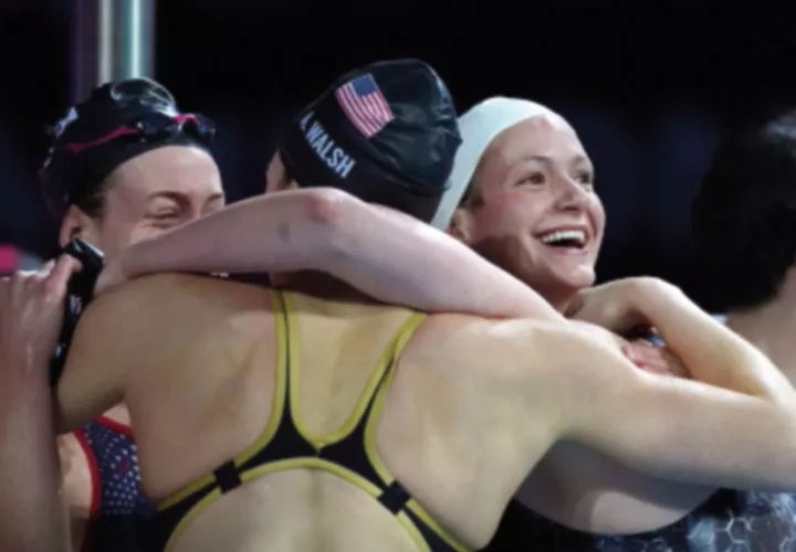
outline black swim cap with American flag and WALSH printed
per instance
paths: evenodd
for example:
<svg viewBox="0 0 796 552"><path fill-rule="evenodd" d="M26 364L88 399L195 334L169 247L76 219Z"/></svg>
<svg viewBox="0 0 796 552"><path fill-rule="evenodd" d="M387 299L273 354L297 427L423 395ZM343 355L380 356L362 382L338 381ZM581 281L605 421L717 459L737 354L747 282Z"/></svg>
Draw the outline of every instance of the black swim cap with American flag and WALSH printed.
<svg viewBox="0 0 796 552"><path fill-rule="evenodd" d="M430 222L460 144L442 79L398 60L338 78L301 112L280 153L302 187L331 185Z"/></svg>

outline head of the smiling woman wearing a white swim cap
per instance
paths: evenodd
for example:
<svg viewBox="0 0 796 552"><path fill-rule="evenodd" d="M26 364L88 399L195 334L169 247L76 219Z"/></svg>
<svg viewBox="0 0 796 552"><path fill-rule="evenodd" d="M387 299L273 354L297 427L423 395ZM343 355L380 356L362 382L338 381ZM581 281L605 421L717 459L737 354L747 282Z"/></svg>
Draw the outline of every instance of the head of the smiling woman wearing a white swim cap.
<svg viewBox="0 0 796 552"><path fill-rule="evenodd" d="M549 109L512 98L479 104L460 125L468 139L452 188L467 190L451 232L565 310L594 284L605 227L577 134Z"/></svg>

